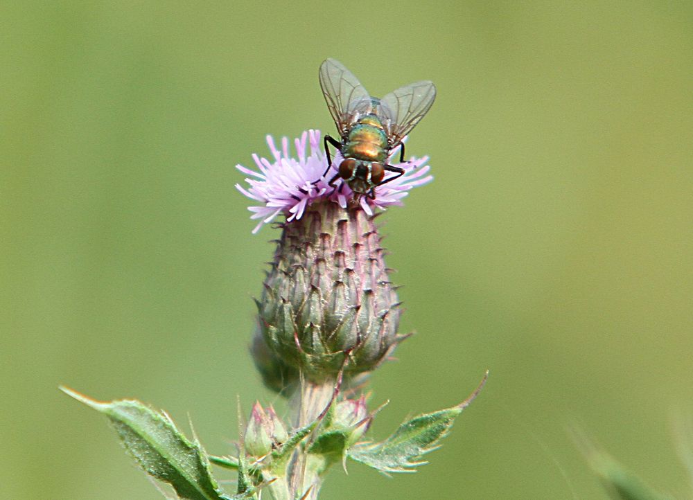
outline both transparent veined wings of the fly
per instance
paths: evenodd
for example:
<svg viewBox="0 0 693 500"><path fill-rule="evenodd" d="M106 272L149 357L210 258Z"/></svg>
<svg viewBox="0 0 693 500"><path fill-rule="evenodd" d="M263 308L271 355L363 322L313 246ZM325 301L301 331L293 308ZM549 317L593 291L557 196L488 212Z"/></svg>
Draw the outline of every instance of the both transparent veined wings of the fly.
<svg viewBox="0 0 693 500"><path fill-rule="evenodd" d="M435 100L433 82L416 82L378 100L372 98L358 78L334 59L320 66L320 87L327 107L344 136L362 114L375 113L385 127L390 149L396 148L428 112Z"/></svg>

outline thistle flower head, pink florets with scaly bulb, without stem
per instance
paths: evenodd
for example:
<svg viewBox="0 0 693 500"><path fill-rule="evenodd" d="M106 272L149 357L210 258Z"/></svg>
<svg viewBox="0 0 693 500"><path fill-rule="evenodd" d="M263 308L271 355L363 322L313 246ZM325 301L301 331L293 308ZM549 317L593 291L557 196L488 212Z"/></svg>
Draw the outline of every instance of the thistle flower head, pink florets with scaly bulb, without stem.
<svg viewBox="0 0 693 500"><path fill-rule="evenodd" d="M274 220L281 238L258 305L252 353L265 384L281 391L303 374L311 382L347 380L373 370L397 343L399 301L389 280L374 210L401 204L415 186L432 179L426 157L394 163L404 174L376 186L375 197L355 196L341 179L328 183L326 155L317 130L295 140L297 157L283 139L267 137L272 160L254 155L258 171L241 193L256 200L254 232ZM333 165L342 157L337 152Z"/></svg>

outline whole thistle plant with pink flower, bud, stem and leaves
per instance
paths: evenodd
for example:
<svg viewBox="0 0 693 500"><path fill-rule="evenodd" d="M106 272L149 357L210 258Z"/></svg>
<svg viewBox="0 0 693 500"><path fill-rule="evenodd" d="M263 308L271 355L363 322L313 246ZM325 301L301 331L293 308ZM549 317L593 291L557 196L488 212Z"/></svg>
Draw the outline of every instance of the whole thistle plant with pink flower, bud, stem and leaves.
<svg viewBox="0 0 693 500"><path fill-rule="evenodd" d="M212 455L164 412L64 389L105 413L143 470L181 499L314 500L328 470L347 460L384 474L413 472L486 381L462 403L411 418L385 440L365 438L379 410L369 410L362 392L367 377L407 338L399 332L400 302L375 218L432 180L428 159L389 159L401 175L367 196L343 180L330 184L335 177L326 175L319 132L294 141L295 157L287 139L281 149L271 137L267 143L270 159L253 155L258 170L237 167L248 176L238 190L255 202L253 232L273 221L281 229L249 343L263 382L287 398L288 411L280 416L256 402L236 449ZM340 161L337 152L331 164ZM222 491L211 465L236 472L233 493Z"/></svg>

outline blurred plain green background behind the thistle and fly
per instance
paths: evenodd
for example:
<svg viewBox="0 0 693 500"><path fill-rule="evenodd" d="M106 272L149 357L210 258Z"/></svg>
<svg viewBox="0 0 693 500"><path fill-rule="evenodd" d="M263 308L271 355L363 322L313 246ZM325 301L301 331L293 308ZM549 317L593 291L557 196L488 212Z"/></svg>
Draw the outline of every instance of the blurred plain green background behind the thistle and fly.
<svg viewBox="0 0 693 500"><path fill-rule="evenodd" d="M418 474L328 499L605 498L579 428L690 497L693 4L28 2L0 7L0 498L157 499L57 389L140 398L232 449L277 231L236 163L333 131L336 57L439 95L407 152L435 182L381 220L417 334L373 378L384 437L491 378ZM225 474L220 474L225 476Z"/></svg>

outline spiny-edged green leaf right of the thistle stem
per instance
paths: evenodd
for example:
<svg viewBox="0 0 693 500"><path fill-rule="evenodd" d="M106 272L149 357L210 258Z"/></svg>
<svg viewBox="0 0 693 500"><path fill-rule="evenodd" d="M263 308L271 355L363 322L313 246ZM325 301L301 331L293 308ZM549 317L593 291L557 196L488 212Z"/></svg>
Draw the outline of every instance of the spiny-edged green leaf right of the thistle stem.
<svg viewBox="0 0 693 500"><path fill-rule="evenodd" d="M439 441L447 436L455 418L476 398L488 375L486 372L481 384L461 404L414 417L380 443L354 445L347 450L347 456L380 472L415 472L417 465L426 464L423 455L439 447Z"/></svg>

